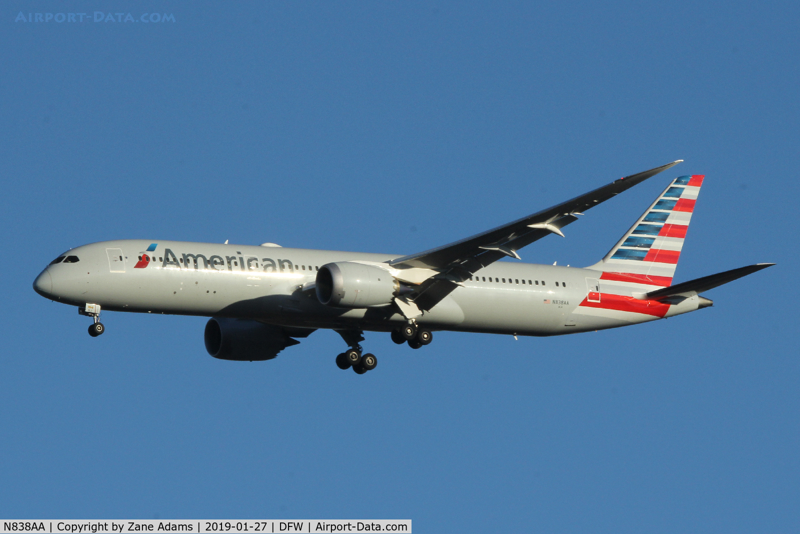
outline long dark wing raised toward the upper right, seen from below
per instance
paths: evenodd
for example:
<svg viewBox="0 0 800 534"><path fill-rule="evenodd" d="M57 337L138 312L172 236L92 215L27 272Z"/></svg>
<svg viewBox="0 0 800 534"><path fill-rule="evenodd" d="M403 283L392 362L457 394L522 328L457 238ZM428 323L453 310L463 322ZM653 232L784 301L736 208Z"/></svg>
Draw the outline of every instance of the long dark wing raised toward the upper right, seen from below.
<svg viewBox="0 0 800 534"><path fill-rule="evenodd" d="M473 235L466 239L432 248L429 251L419 252L393 259L389 262L391 267L397 269L421 268L438 272L423 281L416 291L410 296L417 307L430 310L440 300L458 287L458 283L469 279L475 271L496 262L505 256L519 259L517 251L530 245L537 239L542 239L549 234L562 235L561 229L578 220L578 215L584 211L603 203L606 200L644 182L659 172L681 163L678 159L662 167L640 172L637 175L626 176L606 186L599 187L585 195L580 195L565 203L538 211L512 223Z"/></svg>

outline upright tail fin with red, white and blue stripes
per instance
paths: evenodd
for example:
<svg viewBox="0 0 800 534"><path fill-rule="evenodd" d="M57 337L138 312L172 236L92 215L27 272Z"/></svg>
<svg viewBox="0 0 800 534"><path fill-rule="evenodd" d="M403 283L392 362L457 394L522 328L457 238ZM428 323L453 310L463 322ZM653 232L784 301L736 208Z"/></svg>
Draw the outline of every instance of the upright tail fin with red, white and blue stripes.
<svg viewBox="0 0 800 534"><path fill-rule="evenodd" d="M670 286L702 180L703 175L674 179L606 257L588 268L628 291Z"/></svg>

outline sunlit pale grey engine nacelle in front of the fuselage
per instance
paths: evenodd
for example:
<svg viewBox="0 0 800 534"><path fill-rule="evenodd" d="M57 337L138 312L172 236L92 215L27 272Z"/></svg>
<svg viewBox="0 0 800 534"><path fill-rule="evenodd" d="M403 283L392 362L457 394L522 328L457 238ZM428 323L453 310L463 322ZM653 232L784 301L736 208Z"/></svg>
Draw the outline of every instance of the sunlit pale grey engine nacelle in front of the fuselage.
<svg viewBox="0 0 800 534"><path fill-rule="evenodd" d="M388 271L364 263L327 263L317 272L317 298L326 306L386 306L398 291Z"/></svg>

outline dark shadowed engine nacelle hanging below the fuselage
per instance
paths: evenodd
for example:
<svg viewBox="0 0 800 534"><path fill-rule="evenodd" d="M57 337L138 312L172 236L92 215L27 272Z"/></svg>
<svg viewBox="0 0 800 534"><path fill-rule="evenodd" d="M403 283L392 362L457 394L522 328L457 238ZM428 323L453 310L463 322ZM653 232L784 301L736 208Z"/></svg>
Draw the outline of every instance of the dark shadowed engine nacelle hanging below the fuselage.
<svg viewBox="0 0 800 534"><path fill-rule="evenodd" d="M203 335L206 351L214 358L238 361L273 359L290 345L291 339L280 327L250 319L213 317L206 323Z"/></svg>

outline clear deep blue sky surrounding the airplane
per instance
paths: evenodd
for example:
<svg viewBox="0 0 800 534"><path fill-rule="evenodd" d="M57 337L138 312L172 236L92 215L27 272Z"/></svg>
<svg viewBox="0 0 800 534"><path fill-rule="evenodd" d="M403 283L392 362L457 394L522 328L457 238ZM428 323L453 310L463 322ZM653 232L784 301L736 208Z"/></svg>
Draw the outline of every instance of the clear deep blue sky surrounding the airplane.
<svg viewBox="0 0 800 534"><path fill-rule="evenodd" d="M797 532L798 14L4 3L0 516ZM676 281L778 266L655 323L442 332L418 351L372 333L380 365L358 376L335 367L330 331L226 362L206 354L205 319L108 312L92 339L31 289L60 252L105 239L410 254L674 159L521 251L590 265L670 179L706 175Z"/></svg>

